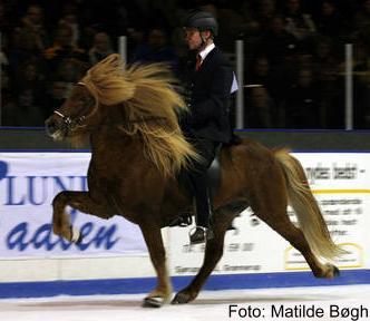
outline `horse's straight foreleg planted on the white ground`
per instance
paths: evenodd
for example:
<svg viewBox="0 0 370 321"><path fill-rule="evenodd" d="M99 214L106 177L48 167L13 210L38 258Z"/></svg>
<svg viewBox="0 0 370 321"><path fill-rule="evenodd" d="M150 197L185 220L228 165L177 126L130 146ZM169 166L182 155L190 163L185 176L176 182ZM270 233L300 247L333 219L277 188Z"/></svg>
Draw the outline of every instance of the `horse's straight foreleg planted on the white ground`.
<svg viewBox="0 0 370 321"><path fill-rule="evenodd" d="M139 224L146 245L148 247L150 260L157 273L157 286L144 299L144 307L158 308L171 299L172 284L166 266L166 252L163 243L160 227L154 224Z"/></svg>

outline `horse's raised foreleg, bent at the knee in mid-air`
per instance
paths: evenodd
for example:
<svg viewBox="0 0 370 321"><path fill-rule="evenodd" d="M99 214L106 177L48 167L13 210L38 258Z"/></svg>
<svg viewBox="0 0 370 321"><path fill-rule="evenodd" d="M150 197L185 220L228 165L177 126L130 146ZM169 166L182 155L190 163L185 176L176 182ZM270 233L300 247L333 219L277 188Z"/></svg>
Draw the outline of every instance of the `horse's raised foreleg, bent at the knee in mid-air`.
<svg viewBox="0 0 370 321"><path fill-rule="evenodd" d="M103 218L110 217L107 206L97 204L87 192L60 192L52 201L52 232L69 242L79 242L81 235L70 224L69 215L65 211L68 205Z"/></svg>

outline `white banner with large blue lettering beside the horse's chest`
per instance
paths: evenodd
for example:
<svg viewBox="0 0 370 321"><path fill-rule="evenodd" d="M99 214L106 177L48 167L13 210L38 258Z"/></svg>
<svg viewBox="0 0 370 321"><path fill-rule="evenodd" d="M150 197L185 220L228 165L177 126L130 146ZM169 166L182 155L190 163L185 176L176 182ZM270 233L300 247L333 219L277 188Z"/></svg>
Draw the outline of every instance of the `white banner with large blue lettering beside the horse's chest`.
<svg viewBox="0 0 370 321"><path fill-rule="evenodd" d="M147 255L140 230L67 207L85 235L79 245L52 234L53 197L87 191L89 153L0 153L0 259Z"/></svg>

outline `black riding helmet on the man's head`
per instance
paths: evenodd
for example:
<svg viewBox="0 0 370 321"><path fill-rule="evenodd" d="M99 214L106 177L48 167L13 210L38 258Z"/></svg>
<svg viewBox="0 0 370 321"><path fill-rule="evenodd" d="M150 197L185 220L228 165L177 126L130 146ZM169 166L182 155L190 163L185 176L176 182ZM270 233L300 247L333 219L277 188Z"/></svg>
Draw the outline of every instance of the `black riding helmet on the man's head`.
<svg viewBox="0 0 370 321"><path fill-rule="evenodd" d="M183 23L184 28L195 28L199 31L210 30L213 36L218 33L218 23L215 17L207 11L192 10L189 11Z"/></svg>

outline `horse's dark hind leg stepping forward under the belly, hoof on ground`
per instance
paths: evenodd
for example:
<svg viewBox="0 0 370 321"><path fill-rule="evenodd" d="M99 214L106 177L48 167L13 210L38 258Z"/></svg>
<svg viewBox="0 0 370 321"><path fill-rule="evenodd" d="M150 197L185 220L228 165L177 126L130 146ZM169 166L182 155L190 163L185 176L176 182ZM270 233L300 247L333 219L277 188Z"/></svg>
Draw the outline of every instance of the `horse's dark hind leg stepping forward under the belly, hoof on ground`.
<svg viewBox="0 0 370 321"><path fill-rule="evenodd" d="M214 237L207 241L203 265L192 283L175 295L173 304L188 303L198 295L203 284L223 255L225 232L235 216L236 214L228 211L215 213L217 218L212 226Z"/></svg>

